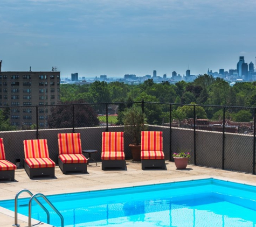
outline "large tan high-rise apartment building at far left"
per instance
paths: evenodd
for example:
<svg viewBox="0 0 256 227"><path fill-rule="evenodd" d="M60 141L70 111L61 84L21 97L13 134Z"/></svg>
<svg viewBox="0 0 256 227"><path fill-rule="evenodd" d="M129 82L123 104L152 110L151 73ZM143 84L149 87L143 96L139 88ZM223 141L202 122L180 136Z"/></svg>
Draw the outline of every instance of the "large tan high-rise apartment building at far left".
<svg viewBox="0 0 256 227"><path fill-rule="evenodd" d="M40 128L47 128L50 105L59 100L60 72L0 72L0 106L9 106L12 125L38 122Z"/></svg>

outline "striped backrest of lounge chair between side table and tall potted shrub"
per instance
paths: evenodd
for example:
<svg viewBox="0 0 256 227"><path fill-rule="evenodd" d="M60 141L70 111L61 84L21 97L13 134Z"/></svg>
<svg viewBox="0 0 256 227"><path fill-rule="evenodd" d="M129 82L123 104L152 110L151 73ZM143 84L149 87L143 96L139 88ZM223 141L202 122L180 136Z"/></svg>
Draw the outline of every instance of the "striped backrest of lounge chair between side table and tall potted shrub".
<svg viewBox="0 0 256 227"><path fill-rule="evenodd" d="M102 132L102 152L123 152L123 132Z"/></svg>

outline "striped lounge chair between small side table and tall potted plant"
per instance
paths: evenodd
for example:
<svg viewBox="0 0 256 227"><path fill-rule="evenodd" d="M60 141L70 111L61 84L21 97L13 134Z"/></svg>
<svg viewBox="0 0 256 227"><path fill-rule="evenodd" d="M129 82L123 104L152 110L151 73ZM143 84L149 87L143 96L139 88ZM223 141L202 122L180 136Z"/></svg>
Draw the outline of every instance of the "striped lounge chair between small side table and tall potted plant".
<svg viewBox="0 0 256 227"><path fill-rule="evenodd" d="M106 168L126 169L123 152L123 132L102 132L102 170Z"/></svg>

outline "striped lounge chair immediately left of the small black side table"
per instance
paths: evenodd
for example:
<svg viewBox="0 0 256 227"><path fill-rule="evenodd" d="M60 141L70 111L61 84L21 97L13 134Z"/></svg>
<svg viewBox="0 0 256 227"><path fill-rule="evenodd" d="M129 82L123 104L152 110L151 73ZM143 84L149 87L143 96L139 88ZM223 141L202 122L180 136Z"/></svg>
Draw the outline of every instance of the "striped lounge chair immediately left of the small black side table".
<svg viewBox="0 0 256 227"><path fill-rule="evenodd" d="M58 134L58 164L61 171L82 171L87 173L87 159L82 155L80 133Z"/></svg>

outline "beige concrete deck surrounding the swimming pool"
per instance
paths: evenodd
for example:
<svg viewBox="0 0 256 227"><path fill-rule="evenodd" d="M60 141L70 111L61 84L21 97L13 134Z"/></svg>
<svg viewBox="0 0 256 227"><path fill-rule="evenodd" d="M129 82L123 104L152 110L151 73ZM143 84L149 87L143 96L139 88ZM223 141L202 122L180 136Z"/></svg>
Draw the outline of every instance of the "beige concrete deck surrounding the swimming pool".
<svg viewBox="0 0 256 227"><path fill-rule="evenodd" d="M140 162L127 160L126 163L126 171L119 169L102 171L101 162L98 162L98 166L92 163L87 168L87 174L63 174L60 168L56 166L55 178L40 177L29 179L23 168L17 169L15 181L0 180L0 200L13 199L18 191L22 189L28 189L33 194L52 195L204 178L216 178L256 186L256 175L251 174L193 165L188 165L186 169L178 170L174 162L169 161L165 161L166 170L147 169L143 171ZM23 193L20 194L19 198L28 196L27 193ZM19 215L18 219L20 227L28 226L27 217ZM12 226L14 223L14 212L0 207L0 227ZM32 224L35 224L33 226L52 226L45 223L37 223L35 220L32 221Z"/></svg>

